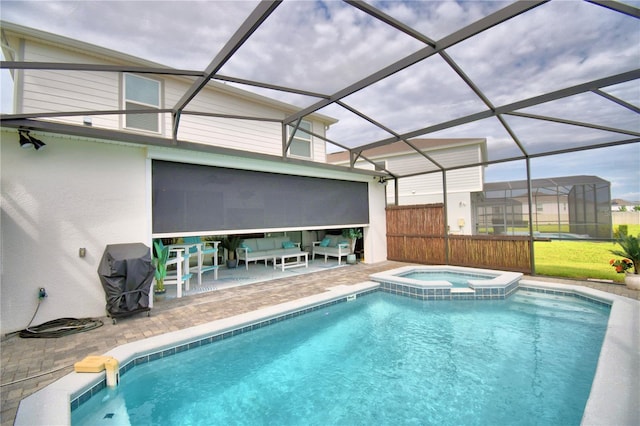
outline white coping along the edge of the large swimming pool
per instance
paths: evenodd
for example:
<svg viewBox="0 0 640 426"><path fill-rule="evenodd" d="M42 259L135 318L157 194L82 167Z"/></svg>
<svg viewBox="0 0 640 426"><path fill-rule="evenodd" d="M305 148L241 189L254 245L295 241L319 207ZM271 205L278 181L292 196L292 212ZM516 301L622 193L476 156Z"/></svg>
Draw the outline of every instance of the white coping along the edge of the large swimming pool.
<svg viewBox="0 0 640 426"><path fill-rule="evenodd" d="M640 303L575 285L522 280L520 288L612 304L607 332L582 421L583 424L640 423L640 411L636 404L636 396L640 392L637 351L640 347L637 327ZM125 344L105 355L112 356L120 362L120 371L124 375L123 372L130 370L134 365L156 359L158 353L187 350L208 338L207 336L235 334L236 331L243 333L278 318L293 318L299 312L311 312L317 307L344 301L354 294L380 289L381 285L375 282L329 287L326 292L314 296ZM462 305L468 306L470 303L475 304L463 302ZM70 424L70 401L72 404L78 404L89 400L104 388L104 381L104 373L70 373L23 399L18 408L15 425Z"/></svg>

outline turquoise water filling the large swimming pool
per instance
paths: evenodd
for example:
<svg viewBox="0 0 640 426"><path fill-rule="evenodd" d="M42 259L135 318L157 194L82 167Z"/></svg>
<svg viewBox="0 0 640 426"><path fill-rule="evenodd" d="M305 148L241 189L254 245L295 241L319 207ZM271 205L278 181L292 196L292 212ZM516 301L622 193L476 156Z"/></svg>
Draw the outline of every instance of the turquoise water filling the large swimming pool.
<svg viewBox="0 0 640 426"><path fill-rule="evenodd" d="M74 425L578 425L609 309L376 292L139 365Z"/></svg>

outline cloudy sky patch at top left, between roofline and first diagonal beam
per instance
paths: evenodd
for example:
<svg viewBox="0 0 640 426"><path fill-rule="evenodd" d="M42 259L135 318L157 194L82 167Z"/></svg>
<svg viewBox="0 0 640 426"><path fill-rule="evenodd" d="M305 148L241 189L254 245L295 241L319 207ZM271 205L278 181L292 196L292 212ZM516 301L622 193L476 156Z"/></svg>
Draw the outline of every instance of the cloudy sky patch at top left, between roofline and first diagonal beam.
<svg viewBox="0 0 640 426"><path fill-rule="evenodd" d="M2 1L0 16L175 68L204 69L257 1Z"/></svg>

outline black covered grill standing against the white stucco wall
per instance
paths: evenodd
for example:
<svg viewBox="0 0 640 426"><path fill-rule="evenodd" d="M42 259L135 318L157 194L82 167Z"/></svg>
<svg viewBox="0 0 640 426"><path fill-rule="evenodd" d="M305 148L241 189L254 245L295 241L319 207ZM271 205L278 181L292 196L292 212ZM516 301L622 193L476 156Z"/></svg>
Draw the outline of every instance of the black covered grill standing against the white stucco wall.
<svg viewBox="0 0 640 426"><path fill-rule="evenodd" d="M154 274L151 252L146 245L108 245L98 266L107 312L118 316L148 310Z"/></svg>

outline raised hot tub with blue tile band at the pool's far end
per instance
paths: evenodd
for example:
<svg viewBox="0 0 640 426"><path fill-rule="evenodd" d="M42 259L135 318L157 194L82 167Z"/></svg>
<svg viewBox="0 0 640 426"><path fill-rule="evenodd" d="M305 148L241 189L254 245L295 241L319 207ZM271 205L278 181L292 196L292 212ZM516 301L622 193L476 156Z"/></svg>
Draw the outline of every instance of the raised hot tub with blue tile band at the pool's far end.
<svg viewBox="0 0 640 426"><path fill-rule="evenodd" d="M504 299L518 288L519 272L461 266L405 266L371 275L381 290L423 300Z"/></svg>

